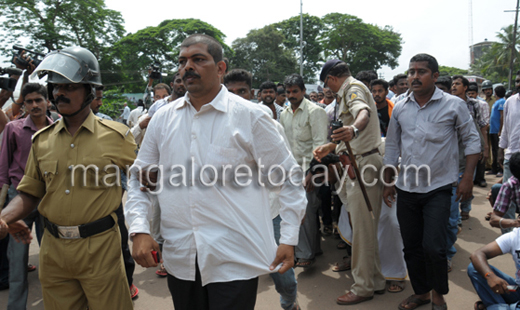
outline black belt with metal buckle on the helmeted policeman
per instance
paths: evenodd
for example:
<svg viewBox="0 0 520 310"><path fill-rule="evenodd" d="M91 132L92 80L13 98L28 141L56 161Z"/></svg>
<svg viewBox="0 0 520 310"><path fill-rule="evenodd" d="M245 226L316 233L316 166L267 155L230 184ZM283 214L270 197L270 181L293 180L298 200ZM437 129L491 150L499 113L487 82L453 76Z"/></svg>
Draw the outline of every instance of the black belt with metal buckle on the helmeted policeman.
<svg viewBox="0 0 520 310"><path fill-rule="evenodd" d="M111 215L97 221L79 226L59 226L43 217L45 228L58 239L81 239L97 235L114 227L115 221Z"/></svg>

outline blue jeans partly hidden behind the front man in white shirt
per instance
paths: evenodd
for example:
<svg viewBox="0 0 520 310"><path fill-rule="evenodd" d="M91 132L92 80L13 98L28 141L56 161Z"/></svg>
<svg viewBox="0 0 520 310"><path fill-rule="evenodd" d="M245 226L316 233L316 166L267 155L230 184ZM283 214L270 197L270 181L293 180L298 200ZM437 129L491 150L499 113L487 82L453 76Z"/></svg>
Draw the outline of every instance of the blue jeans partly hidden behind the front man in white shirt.
<svg viewBox="0 0 520 310"><path fill-rule="evenodd" d="M280 215L273 219L274 239L276 244L280 245L280 223L282 218ZM269 274L273 279L274 287L278 294L280 294L280 305L283 309L292 309L296 302L296 293L298 283L294 276L294 269L290 268L284 274L278 272Z"/></svg>

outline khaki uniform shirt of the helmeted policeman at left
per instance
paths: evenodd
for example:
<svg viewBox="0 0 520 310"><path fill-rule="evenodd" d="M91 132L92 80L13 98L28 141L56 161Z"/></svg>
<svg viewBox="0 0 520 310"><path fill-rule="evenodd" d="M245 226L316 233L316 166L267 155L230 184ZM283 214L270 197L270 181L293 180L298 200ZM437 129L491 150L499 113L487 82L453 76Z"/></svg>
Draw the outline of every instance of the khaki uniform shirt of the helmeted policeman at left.
<svg viewBox="0 0 520 310"><path fill-rule="evenodd" d="M132 165L135 149L128 127L92 112L74 136L59 120L34 134L17 190L41 198L38 211L52 223L93 222L110 215L121 203L116 167L126 170ZM81 165L93 166L85 172Z"/></svg>

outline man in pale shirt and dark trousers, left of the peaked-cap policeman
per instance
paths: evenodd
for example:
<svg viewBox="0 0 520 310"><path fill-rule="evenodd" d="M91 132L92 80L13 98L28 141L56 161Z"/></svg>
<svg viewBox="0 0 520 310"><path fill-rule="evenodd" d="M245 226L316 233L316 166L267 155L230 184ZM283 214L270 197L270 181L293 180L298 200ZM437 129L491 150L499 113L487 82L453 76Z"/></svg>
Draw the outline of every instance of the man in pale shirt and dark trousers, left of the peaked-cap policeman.
<svg viewBox="0 0 520 310"><path fill-rule="evenodd" d="M304 98L305 84L300 75L289 75L285 78L284 84L291 105L280 115L280 124L284 127L296 162L307 172L312 160L312 150L327 142L327 113ZM312 174L308 173L307 176L310 178ZM318 209L321 206L318 197L319 187L314 187L306 178L305 189L308 203L305 222L300 228L300 238L295 251L296 267L310 266L316 253L321 252L318 226Z"/></svg>

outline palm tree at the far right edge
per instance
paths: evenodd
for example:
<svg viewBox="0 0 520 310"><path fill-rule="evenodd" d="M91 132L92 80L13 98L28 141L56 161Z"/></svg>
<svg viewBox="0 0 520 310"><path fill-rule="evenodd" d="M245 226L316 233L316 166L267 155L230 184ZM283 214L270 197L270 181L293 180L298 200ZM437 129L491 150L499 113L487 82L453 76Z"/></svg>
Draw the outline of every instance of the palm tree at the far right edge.
<svg viewBox="0 0 520 310"><path fill-rule="evenodd" d="M500 30L500 32L497 32L498 42L493 43L491 45L491 48L487 49L482 55L482 57L475 61L475 63L471 66L471 70L474 73L482 75L486 77L486 79L489 79L494 83L508 84L507 79L509 76L509 66L511 61L511 46L513 44L514 33L513 30L514 26L509 25L507 27L503 27ZM515 60L519 59L519 36L520 31L517 31L514 55ZM514 66L515 67L513 68L513 75L516 73L518 69L520 69L518 61L515 62Z"/></svg>

